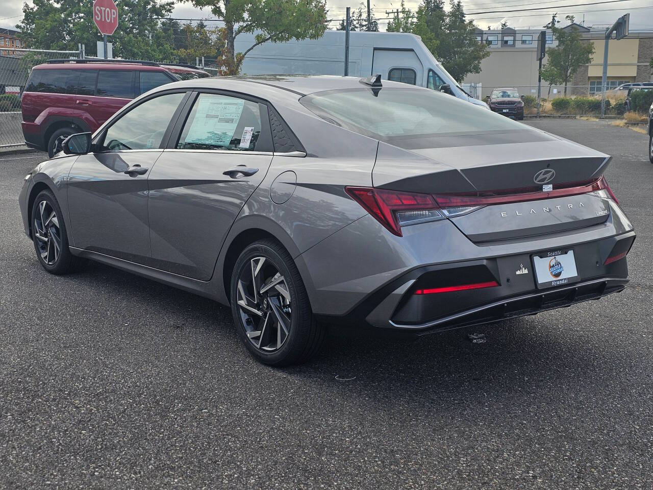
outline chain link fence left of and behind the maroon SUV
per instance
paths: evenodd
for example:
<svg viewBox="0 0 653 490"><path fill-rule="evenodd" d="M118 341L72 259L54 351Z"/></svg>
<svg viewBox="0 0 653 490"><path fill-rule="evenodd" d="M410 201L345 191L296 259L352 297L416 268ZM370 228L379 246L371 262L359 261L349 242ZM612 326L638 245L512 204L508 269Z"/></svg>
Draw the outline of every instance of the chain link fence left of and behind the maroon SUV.
<svg viewBox="0 0 653 490"><path fill-rule="evenodd" d="M10 53L12 54L0 56L0 148L23 144L20 97L32 68L46 59L80 57L80 52L77 51L12 48Z"/></svg>

